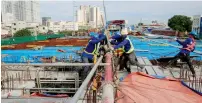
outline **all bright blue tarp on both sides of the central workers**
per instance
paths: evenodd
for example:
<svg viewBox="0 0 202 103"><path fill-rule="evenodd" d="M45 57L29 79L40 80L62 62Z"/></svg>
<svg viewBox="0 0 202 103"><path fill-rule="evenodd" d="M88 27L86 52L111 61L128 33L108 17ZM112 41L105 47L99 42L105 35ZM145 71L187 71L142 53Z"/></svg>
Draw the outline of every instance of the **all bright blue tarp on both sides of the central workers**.
<svg viewBox="0 0 202 103"><path fill-rule="evenodd" d="M158 59L165 56L175 56L178 52L178 48L171 46L158 46L158 45L149 45L157 44L151 41L138 39L135 37L130 37L135 49L149 50L149 52L136 52L137 56L144 56L152 59ZM156 39L157 41L170 43L178 45L176 42L169 42L167 39ZM197 42L197 45L202 45L201 41ZM67 51L66 53L58 52L58 49ZM81 57L75 53L75 51L80 50L81 47L44 47L42 50L2 50L1 54L8 54L9 56L2 58L2 62L6 63L24 63L27 60L32 61L33 63L40 63L40 58L42 57L51 57L55 56L58 60L65 58L69 59L69 56L72 55L72 59L76 61L81 61ZM196 47L196 50L202 51L202 47ZM197 55L191 53L191 55ZM202 56L194 58L195 60L201 60Z"/></svg>

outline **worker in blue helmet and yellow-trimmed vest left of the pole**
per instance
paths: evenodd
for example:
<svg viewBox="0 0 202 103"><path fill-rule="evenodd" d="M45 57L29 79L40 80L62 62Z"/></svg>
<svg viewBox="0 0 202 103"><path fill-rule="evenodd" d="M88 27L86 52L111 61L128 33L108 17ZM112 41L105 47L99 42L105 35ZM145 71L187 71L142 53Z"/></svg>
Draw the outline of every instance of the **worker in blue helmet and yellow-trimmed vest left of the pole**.
<svg viewBox="0 0 202 103"><path fill-rule="evenodd" d="M84 63L93 63L94 55L97 55L99 43L104 39L104 37L98 38L98 34L95 32L91 32L90 37L91 39L89 40L88 45L86 46L84 52L81 55L82 61ZM85 79L89 70L89 66L84 67L83 73L81 73L82 79Z"/></svg>

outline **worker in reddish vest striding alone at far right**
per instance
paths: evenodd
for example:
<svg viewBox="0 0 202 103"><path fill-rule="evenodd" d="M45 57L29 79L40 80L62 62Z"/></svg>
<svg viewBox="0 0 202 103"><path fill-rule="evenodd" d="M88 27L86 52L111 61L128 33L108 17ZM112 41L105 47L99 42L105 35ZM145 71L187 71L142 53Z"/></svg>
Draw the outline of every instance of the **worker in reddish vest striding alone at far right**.
<svg viewBox="0 0 202 103"><path fill-rule="evenodd" d="M187 38L184 42L181 42L177 38L174 38L175 41L177 41L180 45L182 45L182 48L180 52L171 60L168 65L174 63L178 59L181 59L182 61L187 62L193 77L196 76L194 67L190 61L190 52L193 52L195 50L195 45L196 45L196 38L197 33L195 31L192 31L189 33L189 38Z"/></svg>

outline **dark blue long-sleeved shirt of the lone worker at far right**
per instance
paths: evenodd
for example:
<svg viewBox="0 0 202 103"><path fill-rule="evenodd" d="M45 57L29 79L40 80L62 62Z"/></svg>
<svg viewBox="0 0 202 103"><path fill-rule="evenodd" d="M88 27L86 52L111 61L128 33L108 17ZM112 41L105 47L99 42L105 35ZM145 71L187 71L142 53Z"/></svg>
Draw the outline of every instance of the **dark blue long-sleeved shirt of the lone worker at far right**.
<svg viewBox="0 0 202 103"><path fill-rule="evenodd" d="M191 38L187 38L184 42L181 42L180 40L176 40L180 45L182 45L182 48L187 48L187 45L192 44L194 41ZM195 50L195 47L194 47ZM193 50L193 51L194 51ZM186 50L186 49L181 49L180 53L185 53L188 54L190 53L190 51Z"/></svg>

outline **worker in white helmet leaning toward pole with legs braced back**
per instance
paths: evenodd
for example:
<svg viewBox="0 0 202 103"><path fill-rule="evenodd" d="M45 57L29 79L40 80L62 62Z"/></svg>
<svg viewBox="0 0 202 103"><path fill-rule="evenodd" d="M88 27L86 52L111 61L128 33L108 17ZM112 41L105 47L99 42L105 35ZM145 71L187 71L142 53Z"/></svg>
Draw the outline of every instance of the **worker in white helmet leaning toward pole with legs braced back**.
<svg viewBox="0 0 202 103"><path fill-rule="evenodd" d="M121 47L124 48L124 53L123 53L124 60L121 60L121 61L124 62L124 67L127 69L127 71L129 73L131 73L130 68L127 67L127 61L129 61L130 64L132 64L132 65L137 65L141 69L143 69L143 66L141 66L138 63L137 58L135 56L133 44L130 41L127 34L128 34L127 28L122 29L121 30L121 42L118 45L115 45L114 47L110 47L110 49L114 50L114 49L118 49Z"/></svg>

